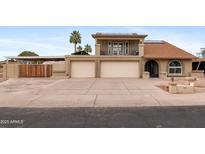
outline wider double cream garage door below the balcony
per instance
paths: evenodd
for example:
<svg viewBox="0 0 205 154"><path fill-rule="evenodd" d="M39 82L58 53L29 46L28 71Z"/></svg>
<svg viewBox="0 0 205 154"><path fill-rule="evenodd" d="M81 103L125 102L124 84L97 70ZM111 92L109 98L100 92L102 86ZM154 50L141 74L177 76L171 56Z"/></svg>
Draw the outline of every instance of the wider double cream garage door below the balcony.
<svg viewBox="0 0 205 154"><path fill-rule="evenodd" d="M101 62L101 77L139 77L138 62Z"/></svg>

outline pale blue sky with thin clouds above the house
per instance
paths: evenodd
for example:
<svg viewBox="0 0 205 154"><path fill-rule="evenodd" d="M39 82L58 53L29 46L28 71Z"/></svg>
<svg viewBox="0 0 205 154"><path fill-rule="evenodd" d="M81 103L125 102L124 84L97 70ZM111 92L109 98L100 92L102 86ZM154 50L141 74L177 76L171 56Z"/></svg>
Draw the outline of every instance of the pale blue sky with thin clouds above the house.
<svg viewBox="0 0 205 154"><path fill-rule="evenodd" d="M4 56L17 56L25 50L40 56L68 55L74 51L69 42L73 30L80 31L81 46L92 46L92 54L95 40L91 34L96 32L147 34L147 40L165 40L194 55L205 47L205 26L1 26L0 60L4 60Z"/></svg>

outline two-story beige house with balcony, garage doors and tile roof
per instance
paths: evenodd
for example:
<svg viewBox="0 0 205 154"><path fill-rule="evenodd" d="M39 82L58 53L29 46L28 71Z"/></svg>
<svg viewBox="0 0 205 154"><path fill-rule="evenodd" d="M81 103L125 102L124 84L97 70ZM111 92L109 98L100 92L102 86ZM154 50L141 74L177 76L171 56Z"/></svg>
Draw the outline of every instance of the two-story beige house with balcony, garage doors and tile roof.
<svg viewBox="0 0 205 154"><path fill-rule="evenodd" d="M192 54L136 33L96 33L95 56L66 56L70 77L190 76ZM149 73L148 73L149 72Z"/></svg>

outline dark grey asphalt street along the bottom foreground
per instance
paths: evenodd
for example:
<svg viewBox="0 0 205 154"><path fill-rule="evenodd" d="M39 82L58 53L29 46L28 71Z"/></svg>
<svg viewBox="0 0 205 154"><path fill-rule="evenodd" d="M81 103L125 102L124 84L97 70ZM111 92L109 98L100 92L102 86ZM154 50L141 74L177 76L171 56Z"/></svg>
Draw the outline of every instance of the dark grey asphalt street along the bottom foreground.
<svg viewBox="0 0 205 154"><path fill-rule="evenodd" d="M198 128L205 127L205 106L0 108L0 127Z"/></svg>

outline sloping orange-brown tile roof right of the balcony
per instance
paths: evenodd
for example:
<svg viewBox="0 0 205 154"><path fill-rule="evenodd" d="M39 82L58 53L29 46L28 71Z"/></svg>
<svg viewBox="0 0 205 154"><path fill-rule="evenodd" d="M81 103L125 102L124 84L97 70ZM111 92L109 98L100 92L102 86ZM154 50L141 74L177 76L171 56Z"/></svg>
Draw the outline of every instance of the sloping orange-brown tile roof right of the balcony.
<svg viewBox="0 0 205 154"><path fill-rule="evenodd" d="M144 57L157 59L194 59L194 55L165 41L145 41Z"/></svg>

